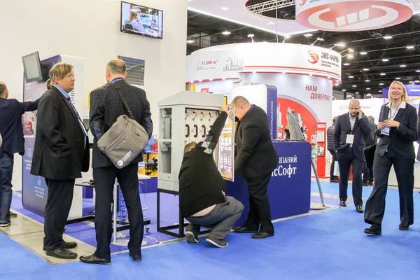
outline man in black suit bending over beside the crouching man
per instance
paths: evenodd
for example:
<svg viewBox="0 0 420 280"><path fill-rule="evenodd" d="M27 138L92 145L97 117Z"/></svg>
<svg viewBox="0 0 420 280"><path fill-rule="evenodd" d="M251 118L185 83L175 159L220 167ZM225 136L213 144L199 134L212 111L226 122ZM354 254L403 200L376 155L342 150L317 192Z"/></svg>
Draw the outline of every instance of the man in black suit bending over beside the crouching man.
<svg viewBox="0 0 420 280"><path fill-rule="evenodd" d="M235 115L239 119L235 135L235 172L246 179L250 202L246 222L233 230L255 233L253 238L272 237L274 227L267 186L272 171L279 165L279 155L269 134L267 114L240 96L232 100L232 106L235 106Z"/></svg>

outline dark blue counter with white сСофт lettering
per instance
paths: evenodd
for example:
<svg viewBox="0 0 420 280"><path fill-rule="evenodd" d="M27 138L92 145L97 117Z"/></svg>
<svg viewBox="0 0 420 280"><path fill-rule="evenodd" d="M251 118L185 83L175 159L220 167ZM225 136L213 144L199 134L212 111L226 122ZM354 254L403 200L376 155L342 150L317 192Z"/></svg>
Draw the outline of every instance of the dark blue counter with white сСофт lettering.
<svg viewBox="0 0 420 280"><path fill-rule="evenodd" d="M273 142L279 154L279 166L272 172L268 197L272 220L309 212L311 205L311 145L308 142ZM261 158L264 160L264 158ZM235 223L241 226L249 211L248 185L239 174L235 182L226 181L228 195L244 204L244 212Z"/></svg>

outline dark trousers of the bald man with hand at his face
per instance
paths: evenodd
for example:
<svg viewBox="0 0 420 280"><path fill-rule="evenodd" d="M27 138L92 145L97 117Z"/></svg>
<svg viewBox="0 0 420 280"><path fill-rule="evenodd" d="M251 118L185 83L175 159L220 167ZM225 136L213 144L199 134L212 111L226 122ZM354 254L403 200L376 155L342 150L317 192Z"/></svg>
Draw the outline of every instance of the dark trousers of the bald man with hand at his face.
<svg viewBox="0 0 420 280"><path fill-rule="evenodd" d="M353 165L353 201L354 205L363 205L362 200L362 169L364 158L356 158L353 150L337 153L339 164L339 200L347 200L347 187L349 186L350 166Z"/></svg>

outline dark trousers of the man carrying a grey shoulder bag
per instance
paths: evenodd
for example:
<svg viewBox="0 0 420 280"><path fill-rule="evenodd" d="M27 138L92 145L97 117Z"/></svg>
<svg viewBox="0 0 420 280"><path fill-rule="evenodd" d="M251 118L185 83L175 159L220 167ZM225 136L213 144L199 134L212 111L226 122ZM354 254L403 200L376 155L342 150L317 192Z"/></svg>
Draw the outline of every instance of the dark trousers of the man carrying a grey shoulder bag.
<svg viewBox="0 0 420 280"><path fill-rule="evenodd" d="M113 188L116 179L123 192L125 205L130 223L130 241L128 250L133 255L141 255L141 241L143 241L143 211L139 194L139 179L137 177L137 162L127 165L123 169L114 166L93 169L95 197L94 229L97 236L97 258L111 260L109 244L112 237Z"/></svg>

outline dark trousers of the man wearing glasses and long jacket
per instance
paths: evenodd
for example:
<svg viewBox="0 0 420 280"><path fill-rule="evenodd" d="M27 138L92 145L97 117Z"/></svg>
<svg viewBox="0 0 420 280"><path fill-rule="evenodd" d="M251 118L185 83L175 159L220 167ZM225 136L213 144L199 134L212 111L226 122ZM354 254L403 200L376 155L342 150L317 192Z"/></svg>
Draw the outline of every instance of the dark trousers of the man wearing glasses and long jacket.
<svg viewBox="0 0 420 280"><path fill-rule="evenodd" d="M47 251L64 246L63 233L73 201L74 179L45 179L48 186L47 204L45 204L45 221L43 244Z"/></svg>

